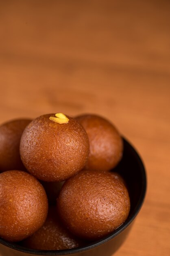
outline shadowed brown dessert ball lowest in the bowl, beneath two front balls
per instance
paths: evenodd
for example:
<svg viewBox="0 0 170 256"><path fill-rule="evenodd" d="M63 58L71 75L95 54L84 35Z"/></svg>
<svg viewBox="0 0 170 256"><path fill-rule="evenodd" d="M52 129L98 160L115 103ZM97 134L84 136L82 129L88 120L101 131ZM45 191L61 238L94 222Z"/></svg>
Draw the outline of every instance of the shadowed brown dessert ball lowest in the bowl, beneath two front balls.
<svg viewBox="0 0 170 256"><path fill-rule="evenodd" d="M50 207L44 225L22 245L37 250L62 250L78 247L81 242L62 225L55 207Z"/></svg>

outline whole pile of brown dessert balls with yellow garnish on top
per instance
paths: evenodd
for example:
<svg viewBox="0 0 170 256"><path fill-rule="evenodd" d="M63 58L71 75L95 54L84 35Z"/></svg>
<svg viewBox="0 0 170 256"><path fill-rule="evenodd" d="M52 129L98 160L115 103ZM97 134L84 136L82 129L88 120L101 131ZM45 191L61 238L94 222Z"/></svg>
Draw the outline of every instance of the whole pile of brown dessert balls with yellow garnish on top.
<svg viewBox="0 0 170 256"><path fill-rule="evenodd" d="M123 142L103 117L63 113L0 126L0 237L39 250L103 238L126 220L129 193L114 172Z"/></svg>

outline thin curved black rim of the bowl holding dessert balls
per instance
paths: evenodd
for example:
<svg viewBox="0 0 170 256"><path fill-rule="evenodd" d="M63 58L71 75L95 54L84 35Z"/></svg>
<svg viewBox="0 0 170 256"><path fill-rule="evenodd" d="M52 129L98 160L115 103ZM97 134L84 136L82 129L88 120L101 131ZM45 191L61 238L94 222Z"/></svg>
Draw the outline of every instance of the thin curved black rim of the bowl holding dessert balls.
<svg viewBox="0 0 170 256"><path fill-rule="evenodd" d="M36 249L29 249L26 247L22 247L20 245L16 245L15 243L10 243L8 241L5 241L3 238L0 238L0 244L9 247L11 249L20 251L20 252L24 252L27 254L33 254L33 255L46 255L46 256L57 256L57 255L69 255L69 254L76 254L76 253L80 253L80 252L84 252L90 249L93 249L99 245L102 245L106 242L108 242L109 240L111 240L112 238L114 238L115 236L118 236L122 231L124 231L124 229L126 229L126 227L128 227L131 222L133 222L133 220L135 219L135 217L137 216L137 214L139 213L139 210L142 207L142 204L144 202L144 198L146 195L146 186L147 186L147 181L146 181L146 170L144 167L144 164L142 162L141 157L139 156L139 153L137 152L137 150L132 146L131 143L129 143L129 141L127 139L123 138L123 142L124 144L126 144L128 147L131 148L131 151L133 152L133 155L135 156L137 163L139 165L139 169L141 171L142 174L142 189L140 192L140 196L139 196L139 200L135 206L135 209L133 210L131 217L128 218L120 227L118 227L115 231L113 231L111 234L105 236L105 238L101 238L100 240L94 241L92 243L89 243L88 245L85 246L81 246L81 247L76 247L76 248L72 248L72 249L64 249L64 250L36 250Z"/></svg>

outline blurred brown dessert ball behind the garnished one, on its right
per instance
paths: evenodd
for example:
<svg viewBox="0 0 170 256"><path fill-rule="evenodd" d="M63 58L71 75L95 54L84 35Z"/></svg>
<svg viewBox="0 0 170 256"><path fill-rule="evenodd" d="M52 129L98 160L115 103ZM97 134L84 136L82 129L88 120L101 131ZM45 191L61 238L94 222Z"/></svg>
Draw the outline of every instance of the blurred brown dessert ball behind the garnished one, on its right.
<svg viewBox="0 0 170 256"><path fill-rule="evenodd" d="M122 158L123 141L109 121L97 115L81 115L76 120L89 137L90 152L85 166L89 170L109 171Z"/></svg>

